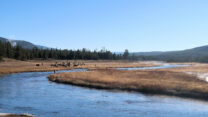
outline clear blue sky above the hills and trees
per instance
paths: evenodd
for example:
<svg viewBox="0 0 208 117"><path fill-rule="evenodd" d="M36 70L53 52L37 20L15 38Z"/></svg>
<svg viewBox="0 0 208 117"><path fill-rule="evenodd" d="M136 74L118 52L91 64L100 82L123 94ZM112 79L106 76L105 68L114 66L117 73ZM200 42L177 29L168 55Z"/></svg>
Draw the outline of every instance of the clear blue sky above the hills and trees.
<svg viewBox="0 0 208 117"><path fill-rule="evenodd" d="M0 0L0 36L62 49L208 45L207 0Z"/></svg>

